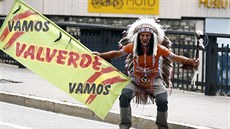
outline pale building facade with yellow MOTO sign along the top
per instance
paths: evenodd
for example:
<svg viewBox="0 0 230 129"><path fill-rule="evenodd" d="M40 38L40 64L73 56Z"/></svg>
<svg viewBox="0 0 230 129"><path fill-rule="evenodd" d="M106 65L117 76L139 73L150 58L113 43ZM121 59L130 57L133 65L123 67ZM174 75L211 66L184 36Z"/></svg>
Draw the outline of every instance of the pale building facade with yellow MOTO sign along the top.
<svg viewBox="0 0 230 129"><path fill-rule="evenodd" d="M140 16L153 16L161 20L166 30L222 32L219 30L221 27L230 26L229 0L24 1L54 22L127 26ZM0 0L1 16L7 15L13 2ZM213 22L221 22L221 27L215 27Z"/></svg>

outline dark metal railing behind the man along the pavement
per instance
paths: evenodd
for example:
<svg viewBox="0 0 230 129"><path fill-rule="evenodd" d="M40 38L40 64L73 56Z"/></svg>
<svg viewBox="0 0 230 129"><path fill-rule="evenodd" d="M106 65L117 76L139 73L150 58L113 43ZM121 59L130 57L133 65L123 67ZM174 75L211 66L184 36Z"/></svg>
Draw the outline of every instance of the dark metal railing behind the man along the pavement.
<svg viewBox="0 0 230 129"><path fill-rule="evenodd" d="M1 21L0 21L1 23ZM121 33L126 28L88 25L74 23L57 23L62 29L78 39L83 45L92 51L104 52L118 49L117 42L121 38ZM179 55L195 57L195 33L181 31L166 31L172 42L172 51ZM174 63L173 87L181 90L199 91L206 95L229 95L229 45L218 46L218 38L230 38L230 35L207 34L209 44L204 50L200 50L201 65L197 75L196 85L191 84L192 70L183 70L181 64ZM5 63L18 64L11 57L0 52L0 61ZM125 57L112 60L111 63L123 73Z"/></svg>

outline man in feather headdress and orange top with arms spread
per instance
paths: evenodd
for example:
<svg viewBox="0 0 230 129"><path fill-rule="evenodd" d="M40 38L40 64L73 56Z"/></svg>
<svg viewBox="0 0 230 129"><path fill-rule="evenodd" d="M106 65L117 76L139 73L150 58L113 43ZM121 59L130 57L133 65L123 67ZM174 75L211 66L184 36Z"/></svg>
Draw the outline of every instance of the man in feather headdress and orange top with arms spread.
<svg viewBox="0 0 230 129"><path fill-rule="evenodd" d="M163 84L159 62L161 57L170 61L176 61L185 65L197 67L199 61L172 53L161 45L165 34L161 26L153 18L140 18L135 21L127 31L127 38L130 41L120 50L93 54L106 60L123 55L132 54L133 67L129 70L132 80L120 95L120 129L131 127L130 101L136 96L136 102L146 104L149 100L155 99L157 105L156 124L158 129L167 129L168 98L167 90Z"/></svg>

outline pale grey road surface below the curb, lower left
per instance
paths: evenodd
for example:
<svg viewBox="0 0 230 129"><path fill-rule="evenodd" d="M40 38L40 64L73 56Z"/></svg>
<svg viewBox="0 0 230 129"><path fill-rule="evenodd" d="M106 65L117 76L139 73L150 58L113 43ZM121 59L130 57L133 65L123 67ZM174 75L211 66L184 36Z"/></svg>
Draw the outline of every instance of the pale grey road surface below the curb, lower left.
<svg viewBox="0 0 230 129"><path fill-rule="evenodd" d="M118 129L118 125L0 102L0 129Z"/></svg>

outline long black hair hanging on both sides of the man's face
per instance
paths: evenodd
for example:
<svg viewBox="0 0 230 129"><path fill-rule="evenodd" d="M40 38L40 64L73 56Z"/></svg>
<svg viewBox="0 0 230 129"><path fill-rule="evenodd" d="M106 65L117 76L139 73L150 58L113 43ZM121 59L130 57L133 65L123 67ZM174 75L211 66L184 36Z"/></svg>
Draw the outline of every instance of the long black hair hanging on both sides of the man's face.
<svg viewBox="0 0 230 129"><path fill-rule="evenodd" d="M149 40L149 47L148 47L148 52L147 52L147 55L152 55L153 54L153 46L154 46L154 35L151 33L151 38ZM143 49L142 49L142 44L141 44L141 40L140 40L140 33L138 34L137 36L137 55L140 56L140 55L143 55L144 52L143 52Z"/></svg>

